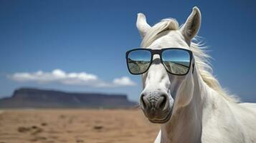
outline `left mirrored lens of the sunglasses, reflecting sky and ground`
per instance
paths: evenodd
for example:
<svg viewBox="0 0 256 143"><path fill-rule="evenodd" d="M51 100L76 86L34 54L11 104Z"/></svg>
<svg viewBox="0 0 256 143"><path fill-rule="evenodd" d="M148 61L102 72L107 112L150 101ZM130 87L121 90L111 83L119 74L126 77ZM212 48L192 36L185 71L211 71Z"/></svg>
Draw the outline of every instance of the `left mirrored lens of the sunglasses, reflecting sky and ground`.
<svg viewBox="0 0 256 143"><path fill-rule="evenodd" d="M142 74L150 65L151 52L143 49L131 51L128 54L127 62L131 74Z"/></svg>

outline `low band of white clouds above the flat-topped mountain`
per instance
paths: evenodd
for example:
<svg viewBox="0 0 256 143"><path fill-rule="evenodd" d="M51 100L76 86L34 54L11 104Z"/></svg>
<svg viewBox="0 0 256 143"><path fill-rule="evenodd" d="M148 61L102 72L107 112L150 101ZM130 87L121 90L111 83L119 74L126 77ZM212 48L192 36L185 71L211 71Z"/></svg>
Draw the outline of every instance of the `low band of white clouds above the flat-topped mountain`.
<svg viewBox="0 0 256 143"><path fill-rule="evenodd" d="M113 82L104 82L95 74L87 74L86 72L70 72L67 73L61 69L54 69L52 72L17 72L8 76L16 82L37 82L37 83L60 83L68 85L80 85L87 87L128 87L136 85L128 77L120 77L113 79Z"/></svg>

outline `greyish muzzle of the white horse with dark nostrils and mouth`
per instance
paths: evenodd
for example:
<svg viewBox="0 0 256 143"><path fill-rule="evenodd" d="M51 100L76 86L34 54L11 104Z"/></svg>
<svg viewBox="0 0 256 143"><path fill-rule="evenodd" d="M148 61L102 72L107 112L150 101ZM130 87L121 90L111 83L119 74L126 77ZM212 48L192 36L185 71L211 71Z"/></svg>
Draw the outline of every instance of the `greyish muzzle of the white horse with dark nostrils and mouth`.
<svg viewBox="0 0 256 143"><path fill-rule="evenodd" d="M141 109L150 122L165 123L171 118L172 106L169 95L164 92L143 92Z"/></svg>

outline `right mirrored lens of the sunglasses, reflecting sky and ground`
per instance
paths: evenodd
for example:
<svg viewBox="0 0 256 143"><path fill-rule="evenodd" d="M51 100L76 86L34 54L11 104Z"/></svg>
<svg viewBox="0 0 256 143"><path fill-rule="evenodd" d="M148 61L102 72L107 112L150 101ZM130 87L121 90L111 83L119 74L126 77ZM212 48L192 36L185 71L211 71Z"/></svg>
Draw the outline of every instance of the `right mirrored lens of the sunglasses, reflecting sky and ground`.
<svg viewBox="0 0 256 143"><path fill-rule="evenodd" d="M167 49L162 52L163 65L172 74L186 74L190 66L189 51L181 49Z"/></svg>

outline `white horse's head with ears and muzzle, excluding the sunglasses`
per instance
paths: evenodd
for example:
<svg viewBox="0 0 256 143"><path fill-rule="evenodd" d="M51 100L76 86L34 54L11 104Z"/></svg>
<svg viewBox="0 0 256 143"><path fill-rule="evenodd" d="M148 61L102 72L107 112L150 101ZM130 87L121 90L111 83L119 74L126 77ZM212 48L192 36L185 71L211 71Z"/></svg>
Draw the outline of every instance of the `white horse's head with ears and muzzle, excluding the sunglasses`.
<svg viewBox="0 0 256 143"><path fill-rule="evenodd" d="M163 19L158 24L147 24L146 16L138 14L136 26L142 37L141 47L161 50L166 48L190 49L191 39L199 31L201 14L194 7L183 26L175 19ZM153 54L148 70L142 74L143 92L139 100L145 116L153 123L166 123L171 114L191 101L193 92L194 58L185 75L170 74L161 62L161 55Z"/></svg>

